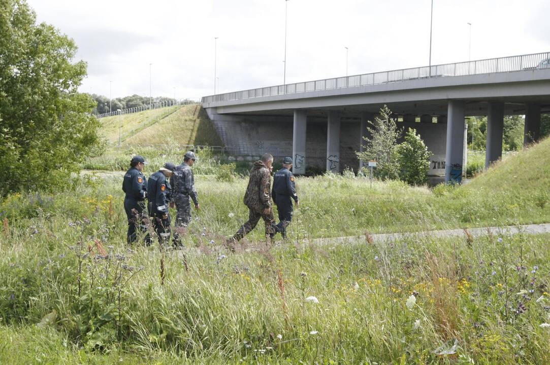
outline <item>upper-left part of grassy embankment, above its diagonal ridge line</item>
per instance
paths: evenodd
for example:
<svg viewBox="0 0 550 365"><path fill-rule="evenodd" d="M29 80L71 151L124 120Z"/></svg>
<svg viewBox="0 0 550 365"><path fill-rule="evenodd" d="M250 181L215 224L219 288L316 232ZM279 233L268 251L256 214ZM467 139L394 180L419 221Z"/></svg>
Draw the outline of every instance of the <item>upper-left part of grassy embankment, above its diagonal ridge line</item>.
<svg viewBox="0 0 550 365"><path fill-rule="evenodd" d="M109 116L100 119L100 134L109 144L117 144L120 126L120 140L124 141L134 136L141 130L161 120L163 117L181 109L182 106L172 106L169 108L159 108L140 111L139 113L123 114Z"/></svg>

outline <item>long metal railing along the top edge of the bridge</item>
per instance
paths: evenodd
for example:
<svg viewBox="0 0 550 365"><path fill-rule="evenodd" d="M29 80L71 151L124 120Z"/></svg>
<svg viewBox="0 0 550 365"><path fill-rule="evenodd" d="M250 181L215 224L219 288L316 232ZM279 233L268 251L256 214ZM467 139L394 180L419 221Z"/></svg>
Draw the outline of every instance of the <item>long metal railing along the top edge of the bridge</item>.
<svg viewBox="0 0 550 365"><path fill-rule="evenodd" d="M372 74L362 74L324 80L290 83L261 87L225 94L202 97L202 103L228 102L266 96L322 91L346 87L378 85L382 83L419 80L423 78L467 76L491 74L494 72L510 72L550 68L550 52L524 54L519 56L490 58L484 60L449 63L444 65L423 66L412 69L401 69Z"/></svg>

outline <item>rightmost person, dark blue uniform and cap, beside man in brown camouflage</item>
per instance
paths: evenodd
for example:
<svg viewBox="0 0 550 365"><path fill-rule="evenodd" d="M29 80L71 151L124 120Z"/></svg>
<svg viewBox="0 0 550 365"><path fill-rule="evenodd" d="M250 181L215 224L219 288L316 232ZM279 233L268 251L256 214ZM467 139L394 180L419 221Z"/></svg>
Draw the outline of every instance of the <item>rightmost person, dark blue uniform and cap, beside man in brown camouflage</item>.
<svg viewBox="0 0 550 365"><path fill-rule="evenodd" d="M294 199L296 206L300 205L296 194L294 175L292 175L290 169L292 169L292 158L285 157L283 168L273 175L273 189L271 192L271 197L277 205L279 214L279 223L276 226L277 232L281 232L283 239L287 239L287 227L292 221L292 200Z"/></svg>

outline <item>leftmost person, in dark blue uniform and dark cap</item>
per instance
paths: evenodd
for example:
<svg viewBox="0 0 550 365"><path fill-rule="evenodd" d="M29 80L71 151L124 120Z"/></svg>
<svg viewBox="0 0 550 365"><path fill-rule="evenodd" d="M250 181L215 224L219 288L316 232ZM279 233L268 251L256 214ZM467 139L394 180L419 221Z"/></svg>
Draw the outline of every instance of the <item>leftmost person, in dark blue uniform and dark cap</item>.
<svg viewBox="0 0 550 365"><path fill-rule="evenodd" d="M124 210L128 218L128 243L133 244L138 240L137 231L147 232L147 179L143 174L147 164L142 156L136 155L130 161L130 170L124 175L122 190L126 193L124 198ZM149 233L145 236L147 245L151 244Z"/></svg>

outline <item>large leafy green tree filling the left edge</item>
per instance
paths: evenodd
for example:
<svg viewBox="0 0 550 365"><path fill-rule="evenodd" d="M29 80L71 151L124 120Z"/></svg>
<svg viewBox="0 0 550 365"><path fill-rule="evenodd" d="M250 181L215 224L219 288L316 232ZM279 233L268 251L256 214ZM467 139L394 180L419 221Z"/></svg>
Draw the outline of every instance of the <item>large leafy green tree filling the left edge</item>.
<svg viewBox="0 0 550 365"><path fill-rule="evenodd" d="M76 49L25 0L0 2L0 195L67 186L98 143Z"/></svg>

